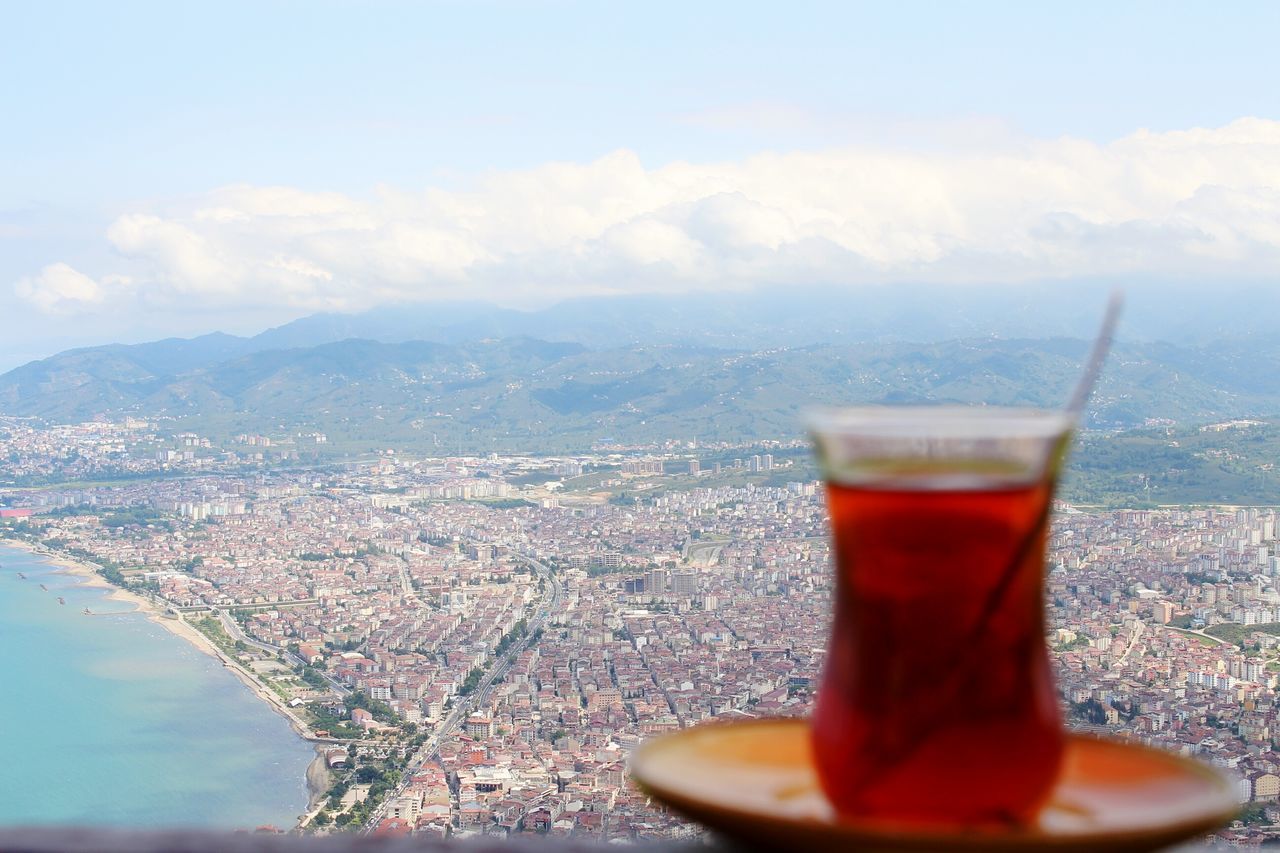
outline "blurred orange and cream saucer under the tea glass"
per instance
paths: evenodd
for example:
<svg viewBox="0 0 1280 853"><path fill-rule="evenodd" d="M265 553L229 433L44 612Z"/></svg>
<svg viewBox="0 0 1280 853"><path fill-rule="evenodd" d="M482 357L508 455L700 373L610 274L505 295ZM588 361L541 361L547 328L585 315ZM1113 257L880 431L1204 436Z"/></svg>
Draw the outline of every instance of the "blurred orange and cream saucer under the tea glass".
<svg viewBox="0 0 1280 853"><path fill-rule="evenodd" d="M1062 774L1034 825L928 829L837 818L814 775L806 720L712 722L643 744L639 785L749 847L803 850L1153 850L1239 811L1215 767L1160 749L1068 734Z"/></svg>

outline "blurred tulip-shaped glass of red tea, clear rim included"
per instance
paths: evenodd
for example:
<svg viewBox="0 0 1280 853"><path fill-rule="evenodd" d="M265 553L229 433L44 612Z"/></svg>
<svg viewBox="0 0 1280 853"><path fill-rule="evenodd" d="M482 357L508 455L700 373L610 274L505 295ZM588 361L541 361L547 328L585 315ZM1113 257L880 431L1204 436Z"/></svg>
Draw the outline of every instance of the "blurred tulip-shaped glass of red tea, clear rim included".
<svg viewBox="0 0 1280 853"><path fill-rule="evenodd" d="M837 813L913 825L1034 818L1064 735L1044 643L1044 543L1064 412L813 412L835 625L813 720Z"/></svg>

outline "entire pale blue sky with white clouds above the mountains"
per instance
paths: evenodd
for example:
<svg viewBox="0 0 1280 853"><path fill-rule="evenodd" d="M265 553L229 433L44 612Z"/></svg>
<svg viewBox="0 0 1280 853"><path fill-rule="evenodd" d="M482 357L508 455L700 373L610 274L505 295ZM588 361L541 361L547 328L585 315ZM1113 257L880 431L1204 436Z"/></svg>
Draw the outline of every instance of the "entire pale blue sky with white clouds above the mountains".
<svg viewBox="0 0 1280 853"><path fill-rule="evenodd" d="M0 13L0 369L402 301L1280 278L1276 4Z"/></svg>

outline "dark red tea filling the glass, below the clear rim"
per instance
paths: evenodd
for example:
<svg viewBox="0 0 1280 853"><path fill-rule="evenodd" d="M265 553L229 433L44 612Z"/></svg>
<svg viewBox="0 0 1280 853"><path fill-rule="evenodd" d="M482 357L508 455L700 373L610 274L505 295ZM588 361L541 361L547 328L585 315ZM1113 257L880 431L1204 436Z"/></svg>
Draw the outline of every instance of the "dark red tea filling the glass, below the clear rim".
<svg viewBox="0 0 1280 853"><path fill-rule="evenodd" d="M1044 647L1048 484L909 485L828 485L819 777L846 816L1025 822L1062 753Z"/></svg>

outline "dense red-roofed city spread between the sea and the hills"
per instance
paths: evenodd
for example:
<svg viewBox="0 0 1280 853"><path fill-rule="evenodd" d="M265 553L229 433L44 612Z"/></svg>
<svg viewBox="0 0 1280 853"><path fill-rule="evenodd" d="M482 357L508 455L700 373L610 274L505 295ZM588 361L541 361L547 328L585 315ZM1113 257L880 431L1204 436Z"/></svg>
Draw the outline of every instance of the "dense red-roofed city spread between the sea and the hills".
<svg viewBox="0 0 1280 853"><path fill-rule="evenodd" d="M0 435L6 476L63 483L0 491L0 533L137 593L315 743L298 831L695 835L630 751L812 710L829 552L794 442L303 466L323 435ZM1270 838L1276 512L1056 508L1066 717L1230 768L1251 806L1228 835Z"/></svg>

